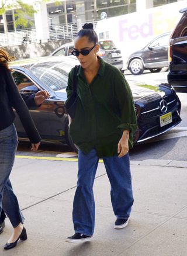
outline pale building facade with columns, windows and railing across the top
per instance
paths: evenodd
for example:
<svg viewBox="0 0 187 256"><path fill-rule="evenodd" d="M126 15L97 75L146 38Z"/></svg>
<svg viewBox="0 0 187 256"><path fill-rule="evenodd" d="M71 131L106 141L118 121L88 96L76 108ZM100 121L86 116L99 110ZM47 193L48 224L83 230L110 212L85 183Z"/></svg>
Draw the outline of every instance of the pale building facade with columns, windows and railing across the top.
<svg viewBox="0 0 187 256"><path fill-rule="evenodd" d="M179 1L182 0L64 0L57 5L54 0L33 0L33 8L37 12L33 17L26 17L32 21L32 25L28 22L25 28L21 25L15 27L16 11L13 9L0 15L0 43L13 45L72 39L83 23L93 22L96 25L102 19L143 12Z"/></svg>

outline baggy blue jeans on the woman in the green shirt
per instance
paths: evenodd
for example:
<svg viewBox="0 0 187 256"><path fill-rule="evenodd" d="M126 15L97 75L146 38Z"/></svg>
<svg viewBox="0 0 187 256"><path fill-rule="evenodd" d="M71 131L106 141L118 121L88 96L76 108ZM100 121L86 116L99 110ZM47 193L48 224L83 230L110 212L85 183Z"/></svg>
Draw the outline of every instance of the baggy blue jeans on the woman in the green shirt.
<svg viewBox="0 0 187 256"><path fill-rule="evenodd" d="M93 197L93 182L99 158L96 150L88 154L79 150L78 154L78 182L75 191L72 219L75 233L92 236L95 226L95 202ZM108 175L111 190L110 197L113 212L118 219L126 219L130 216L133 205L133 191L129 165L129 154L119 158L103 157L106 173Z"/></svg>

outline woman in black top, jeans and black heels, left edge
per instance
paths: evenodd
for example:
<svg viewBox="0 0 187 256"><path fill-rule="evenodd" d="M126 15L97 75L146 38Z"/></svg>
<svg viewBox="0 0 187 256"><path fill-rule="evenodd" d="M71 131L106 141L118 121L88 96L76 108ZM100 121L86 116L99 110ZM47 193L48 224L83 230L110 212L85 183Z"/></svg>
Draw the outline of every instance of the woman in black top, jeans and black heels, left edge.
<svg viewBox="0 0 187 256"><path fill-rule="evenodd" d="M7 62L10 60L11 57L0 49L0 214L3 208L13 226L13 233L4 246L5 250L15 247L19 239L27 239L23 226L24 217L9 180L18 145L18 136L13 124L13 108L19 115L34 151L39 147L41 140L8 68Z"/></svg>

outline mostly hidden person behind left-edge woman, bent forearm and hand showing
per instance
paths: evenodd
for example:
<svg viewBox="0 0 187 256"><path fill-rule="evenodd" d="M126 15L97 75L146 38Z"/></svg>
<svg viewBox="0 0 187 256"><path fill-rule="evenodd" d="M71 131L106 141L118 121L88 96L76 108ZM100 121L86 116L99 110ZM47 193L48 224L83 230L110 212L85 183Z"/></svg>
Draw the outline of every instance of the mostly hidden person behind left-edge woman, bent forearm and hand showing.
<svg viewBox="0 0 187 256"><path fill-rule="evenodd" d="M27 108L37 108L39 107L43 101L47 98L49 98L50 94L49 92L42 90L37 92L36 94L20 94L22 98L24 99ZM1 216L0 216L0 234L4 231L5 227L5 212L2 209Z"/></svg>

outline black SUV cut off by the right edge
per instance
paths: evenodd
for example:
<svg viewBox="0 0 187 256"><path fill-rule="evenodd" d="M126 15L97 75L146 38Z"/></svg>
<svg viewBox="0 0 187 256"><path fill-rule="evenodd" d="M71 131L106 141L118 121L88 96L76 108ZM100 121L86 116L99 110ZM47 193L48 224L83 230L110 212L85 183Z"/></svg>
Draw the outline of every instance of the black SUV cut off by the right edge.
<svg viewBox="0 0 187 256"><path fill-rule="evenodd" d="M169 40L168 83L177 92L187 92L187 8L176 25Z"/></svg>

